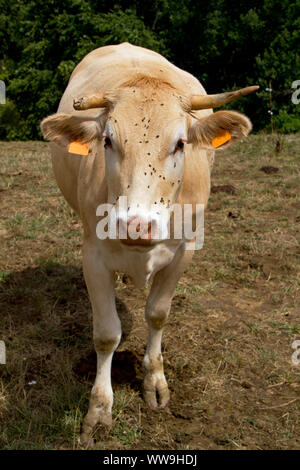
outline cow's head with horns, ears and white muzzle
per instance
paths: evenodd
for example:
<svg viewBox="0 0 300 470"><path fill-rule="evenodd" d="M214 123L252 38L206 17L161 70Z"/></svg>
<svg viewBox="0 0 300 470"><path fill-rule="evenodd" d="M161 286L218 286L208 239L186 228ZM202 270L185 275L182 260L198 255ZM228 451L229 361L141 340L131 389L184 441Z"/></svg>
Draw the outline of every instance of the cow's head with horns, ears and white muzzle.
<svg viewBox="0 0 300 470"><path fill-rule="evenodd" d="M168 209L184 178L185 147L224 148L251 130L249 119L237 112L196 117L193 110L221 106L257 88L187 97L160 78L137 75L107 94L74 102L76 110L104 108L98 117L58 113L44 119L41 128L46 139L66 149L73 141L90 151L104 144L107 202L115 204L123 232L133 224L141 235L134 241L129 235L123 243L148 245L167 235ZM122 210L121 196L127 198Z"/></svg>

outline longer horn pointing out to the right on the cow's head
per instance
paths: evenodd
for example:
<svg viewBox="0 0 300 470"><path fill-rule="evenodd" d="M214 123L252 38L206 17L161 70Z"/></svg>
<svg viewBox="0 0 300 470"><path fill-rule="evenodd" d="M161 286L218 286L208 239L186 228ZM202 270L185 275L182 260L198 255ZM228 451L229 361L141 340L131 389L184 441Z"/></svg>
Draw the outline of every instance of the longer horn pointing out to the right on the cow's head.
<svg viewBox="0 0 300 470"><path fill-rule="evenodd" d="M229 91L227 93L219 93L218 95L192 95L191 109L209 109L222 106L230 101L242 98L259 89L258 85L248 86L241 90Z"/></svg>

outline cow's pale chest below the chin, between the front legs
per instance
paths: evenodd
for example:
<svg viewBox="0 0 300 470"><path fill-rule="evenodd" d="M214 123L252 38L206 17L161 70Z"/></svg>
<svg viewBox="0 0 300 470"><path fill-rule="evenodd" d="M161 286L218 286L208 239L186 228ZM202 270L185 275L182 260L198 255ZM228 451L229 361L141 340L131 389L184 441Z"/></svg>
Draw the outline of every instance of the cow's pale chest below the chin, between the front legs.
<svg viewBox="0 0 300 470"><path fill-rule="evenodd" d="M158 243L151 248L128 247L119 242L101 242L101 257L111 271L127 274L136 287L144 287L170 264L182 241Z"/></svg>

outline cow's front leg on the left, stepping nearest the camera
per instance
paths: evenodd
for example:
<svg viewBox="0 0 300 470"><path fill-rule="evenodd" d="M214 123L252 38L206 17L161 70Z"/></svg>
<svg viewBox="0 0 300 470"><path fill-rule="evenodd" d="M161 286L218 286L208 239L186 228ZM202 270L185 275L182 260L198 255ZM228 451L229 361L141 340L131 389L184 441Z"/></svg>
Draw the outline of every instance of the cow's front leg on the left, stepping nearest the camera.
<svg viewBox="0 0 300 470"><path fill-rule="evenodd" d="M111 362L120 342L121 323L116 310L112 273L104 266L96 246L89 243L85 243L83 247L83 271L93 309L97 375L89 410L83 421L81 443L92 445L94 426L110 426L112 423Z"/></svg>

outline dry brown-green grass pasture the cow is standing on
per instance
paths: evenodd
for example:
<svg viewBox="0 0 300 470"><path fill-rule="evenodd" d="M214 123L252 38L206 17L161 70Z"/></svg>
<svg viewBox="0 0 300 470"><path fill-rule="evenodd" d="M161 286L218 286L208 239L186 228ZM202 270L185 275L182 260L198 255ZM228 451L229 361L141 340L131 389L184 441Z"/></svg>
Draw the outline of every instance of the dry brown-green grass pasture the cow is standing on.
<svg viewBox="0 0 300 470"><path fill-rule="evenodd" d="M276 139L216 154L204 247L165 327L161 412L141 396L148 288L116 276L114 426L97 448L300 448L300 136ZM96 366L80 222L47 143L3 142L0 161L0 448L78 449Z"/></svg>

